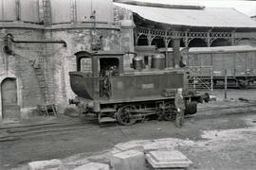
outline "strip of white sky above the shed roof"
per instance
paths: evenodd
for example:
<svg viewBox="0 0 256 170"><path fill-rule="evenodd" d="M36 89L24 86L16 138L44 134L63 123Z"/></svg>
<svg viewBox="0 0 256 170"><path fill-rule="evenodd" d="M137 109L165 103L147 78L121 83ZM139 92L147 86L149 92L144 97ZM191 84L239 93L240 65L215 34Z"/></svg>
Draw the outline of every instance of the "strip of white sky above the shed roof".
<svg viewBox="0 0 256 170"><path fill-rule="evenodd" d="M239 0L137 0L142 2L155 2L176 5L197 5L212 8L235 8L248 16L256 15L256 1Z"/></svg>

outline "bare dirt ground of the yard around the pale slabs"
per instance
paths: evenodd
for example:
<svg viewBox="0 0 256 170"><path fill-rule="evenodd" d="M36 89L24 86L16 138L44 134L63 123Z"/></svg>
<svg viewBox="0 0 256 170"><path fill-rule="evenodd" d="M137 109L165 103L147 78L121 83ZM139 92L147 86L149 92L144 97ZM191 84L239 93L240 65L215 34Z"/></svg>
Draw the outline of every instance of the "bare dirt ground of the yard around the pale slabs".
<svg viewBox="0 0 256 170"><path fill-rule="evenodd" d="M256 107L247 108L247 103L236 99L256 99L256 90L229 90L227 101L223 101L223 90L214 94L220 101L200 104L198 113L187 117L182 128L176 128L174 122L149 121L130 127L81 128L1 142L0 169L80 153L93 155L115 144L161 138L192 141L192 145L177 145L177 149L192 160L189 169L255 169Z"/></svg>

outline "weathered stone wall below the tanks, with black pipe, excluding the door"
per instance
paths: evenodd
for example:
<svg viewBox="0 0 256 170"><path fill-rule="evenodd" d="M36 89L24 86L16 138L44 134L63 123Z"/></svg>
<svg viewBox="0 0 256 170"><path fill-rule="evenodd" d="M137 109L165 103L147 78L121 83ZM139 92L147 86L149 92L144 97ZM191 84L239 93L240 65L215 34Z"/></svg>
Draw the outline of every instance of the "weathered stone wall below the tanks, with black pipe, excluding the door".
<svg viewBox="0 0 256 170"><path fill-rule="evenodd" d="M64 40L67 44L64 47L62 44L11 43L14 55L7 55L1 50L0 76L12 73L23 83L22 106L20 106L22 109L29 110L42 103L55 103L58 110L61 113L64 112L68 99L75 96L70 88L68 72L76 70L75 54L77 52L90 51L91 30L90 27L7 28L0 34L1 47L4 43L4 36L8 33L13 35L14 40ZM93 35L94 42L103 36L103 50L121 50L119 28L96 29Z"/></svg>

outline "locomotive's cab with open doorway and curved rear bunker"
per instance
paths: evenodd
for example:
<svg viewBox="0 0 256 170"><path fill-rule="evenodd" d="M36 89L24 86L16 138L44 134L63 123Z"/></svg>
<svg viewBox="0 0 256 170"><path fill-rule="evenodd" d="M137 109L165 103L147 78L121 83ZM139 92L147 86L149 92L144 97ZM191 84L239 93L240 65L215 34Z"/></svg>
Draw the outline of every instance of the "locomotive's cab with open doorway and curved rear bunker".
<svg viewBox="0 0 256 170"><path fill-rule="evenodd" d="M123 74L122 56L119 52L77 53L77 71L69 73L73 92L89 100L110 97L109 78Z"/></svg>

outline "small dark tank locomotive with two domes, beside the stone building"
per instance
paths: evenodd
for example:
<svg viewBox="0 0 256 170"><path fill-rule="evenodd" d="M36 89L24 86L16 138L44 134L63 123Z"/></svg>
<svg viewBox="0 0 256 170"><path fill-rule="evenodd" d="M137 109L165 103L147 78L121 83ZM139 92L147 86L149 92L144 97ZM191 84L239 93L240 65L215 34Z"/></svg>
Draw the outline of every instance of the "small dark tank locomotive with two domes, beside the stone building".
<svg viewBox="0 0 256 170"><path fill-rule="evenodd" d="M120 52L80 52L77 71L70 72L70 84L77 97L71 99L80 114L94 115L99 123L118 121L133 125L150 117L171 120L175 116L174 96L183 89L185 114L197 111L202 95L189 89L189 73L183 68L165 68L165 59L155 54L147 68L135 57L130 69L124 69Z"/></svg>

